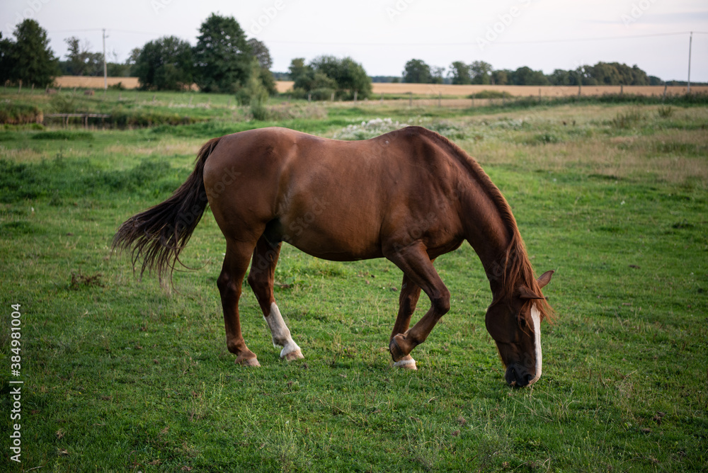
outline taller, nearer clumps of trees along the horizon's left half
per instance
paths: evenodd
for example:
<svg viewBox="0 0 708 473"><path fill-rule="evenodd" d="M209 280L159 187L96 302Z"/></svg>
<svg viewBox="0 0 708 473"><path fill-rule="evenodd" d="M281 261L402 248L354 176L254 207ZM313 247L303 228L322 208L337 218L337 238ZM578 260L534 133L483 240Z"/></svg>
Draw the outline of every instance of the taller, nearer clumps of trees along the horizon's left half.
<svg viewBox="0 0 708 473"><path fill-rule="evenodd" d="M110 76L137 76L144 90L185 90L197 84L204 92L235 93L242 102L262 100L276 93L273 60L268 47L256 38L246 38L232 16L216 13L199 28L197 44L176 36L164 36L135 48L122 64L107 62ZM35 20L16 26L15 39L0 36L0 81L45 87L59 75L103 75L103 54L92 52L87 41L66 38L64 61L49 47L47 32ZM115 55L114 55L115 57ZM371 92L371 79L364 68L350 57L321 56L309 64L303 58L292 60L290 76L296 94L349 98L355 93L365 98Z"/></svg>

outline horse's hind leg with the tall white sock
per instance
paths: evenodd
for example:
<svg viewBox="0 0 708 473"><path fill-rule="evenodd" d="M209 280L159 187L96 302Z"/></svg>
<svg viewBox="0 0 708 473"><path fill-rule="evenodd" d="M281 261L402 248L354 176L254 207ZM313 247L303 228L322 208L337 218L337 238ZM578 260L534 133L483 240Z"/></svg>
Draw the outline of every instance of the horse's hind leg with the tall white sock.
<svg viewBox="0 0 708 473"><path fill-rule="evenodd" d="M290 330L287 329L285 321L280 315L280 309L278 309L278 304L275 304L275 296L273 295L275 265L278 264L280 246L280 243L276 245L268 243L264 236L258 239L256 250L253 251L249 285L253 289L253 293L256 294L258 304L261 305L263 318L270 328L273 346L282 346L280 358L297 360L298 358L304 358L302 351L300 351L297 343L292 340Z"/></svg>

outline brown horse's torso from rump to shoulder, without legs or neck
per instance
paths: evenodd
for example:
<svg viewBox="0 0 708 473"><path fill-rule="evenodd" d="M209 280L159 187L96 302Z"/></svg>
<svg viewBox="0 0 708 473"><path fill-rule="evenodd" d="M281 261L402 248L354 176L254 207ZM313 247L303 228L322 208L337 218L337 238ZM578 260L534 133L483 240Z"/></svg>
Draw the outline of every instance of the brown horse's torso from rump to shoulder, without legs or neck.
<svg viewBox="0 0 708 473"><path fill-rule="evenodd" d="M315 256L382 256L383 239L411 224L425 232L449 200L455 171L420 130L355 142L283 128L227 135L205 164L212 211L224 234L230 222L268 226Z"/></svg>

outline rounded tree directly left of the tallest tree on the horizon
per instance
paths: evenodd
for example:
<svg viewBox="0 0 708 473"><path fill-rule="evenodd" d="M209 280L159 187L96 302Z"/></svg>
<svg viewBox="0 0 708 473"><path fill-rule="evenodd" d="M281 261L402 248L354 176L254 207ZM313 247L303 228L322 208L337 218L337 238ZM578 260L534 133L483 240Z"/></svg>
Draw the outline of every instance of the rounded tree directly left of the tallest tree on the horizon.
<svg viewBox="0 0 708 473"><path fill-rule="evenodd" d="M194 79L192 47L176 36L150 41L140 50L135 72L142 89L183 90Z"/></svg>

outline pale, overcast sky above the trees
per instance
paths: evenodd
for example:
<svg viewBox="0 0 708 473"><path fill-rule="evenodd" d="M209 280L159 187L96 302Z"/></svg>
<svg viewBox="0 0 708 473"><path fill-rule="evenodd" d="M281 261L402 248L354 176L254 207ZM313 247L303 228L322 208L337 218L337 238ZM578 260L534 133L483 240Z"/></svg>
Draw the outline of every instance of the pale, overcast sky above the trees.
<svg viewBox="0 0 708 473"><path fill-rule="evenodd" d="M636 64L661 79L708 82L705 0L3 0L4 38L24 18L47 30L55 55L65 38L87 40L108 60L164 35L196 44L211 13L234 16L248 38L261 40L275 72L291 59L350 56L371 76L401 76L410 59L450 67L489 62L494 69L528 66L549 74L596 62Z"/></svg>

